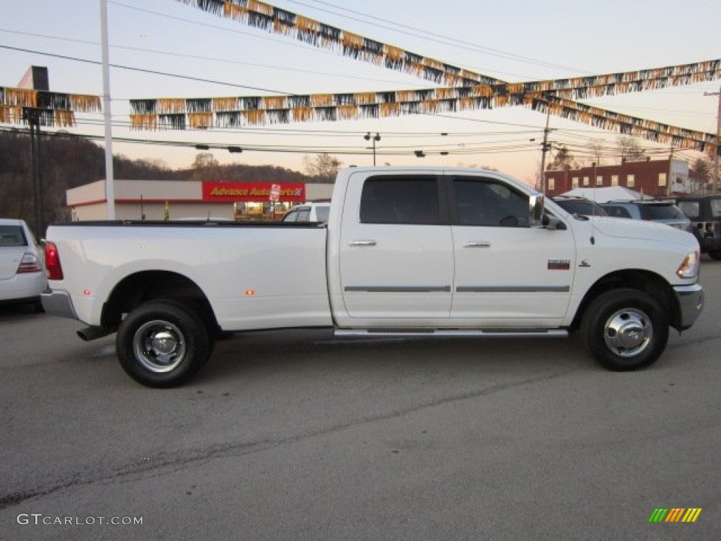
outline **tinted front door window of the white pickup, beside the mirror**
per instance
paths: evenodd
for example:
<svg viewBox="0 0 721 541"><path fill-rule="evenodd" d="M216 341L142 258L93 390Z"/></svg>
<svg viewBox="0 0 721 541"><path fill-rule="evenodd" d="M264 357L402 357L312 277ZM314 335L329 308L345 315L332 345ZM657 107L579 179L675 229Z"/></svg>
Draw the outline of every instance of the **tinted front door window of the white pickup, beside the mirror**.
<svg viewBox="0 0 721 541"><path fill-rule="evenodd" d="M461 226L528 227L528 198L492 179L453 181L455 224Z"/></svg>

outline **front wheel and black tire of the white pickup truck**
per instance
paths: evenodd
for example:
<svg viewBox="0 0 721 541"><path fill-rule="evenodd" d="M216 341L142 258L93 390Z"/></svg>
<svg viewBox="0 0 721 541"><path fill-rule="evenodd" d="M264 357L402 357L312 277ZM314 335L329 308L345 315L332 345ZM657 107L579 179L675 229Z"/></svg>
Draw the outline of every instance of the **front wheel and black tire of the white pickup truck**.
<svg viewBox="0 0 721 541"><path fill-rule="evenodd" d="M668 342L668 316L643 291L614 289L590 304L581 334L590 355L604 368L640 369L663 353Z"/></svg>

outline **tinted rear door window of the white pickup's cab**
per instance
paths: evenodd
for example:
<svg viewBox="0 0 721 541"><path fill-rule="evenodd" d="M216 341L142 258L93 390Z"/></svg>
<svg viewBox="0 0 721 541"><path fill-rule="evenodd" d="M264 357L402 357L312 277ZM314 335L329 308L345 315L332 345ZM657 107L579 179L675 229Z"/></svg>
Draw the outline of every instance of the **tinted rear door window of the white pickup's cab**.
<svg viewBox="0 0 721 541"><path fill-rule="evenodd" d="M361 195L363 224L438 225L438 181L435 177L369 178Z"/></svg>

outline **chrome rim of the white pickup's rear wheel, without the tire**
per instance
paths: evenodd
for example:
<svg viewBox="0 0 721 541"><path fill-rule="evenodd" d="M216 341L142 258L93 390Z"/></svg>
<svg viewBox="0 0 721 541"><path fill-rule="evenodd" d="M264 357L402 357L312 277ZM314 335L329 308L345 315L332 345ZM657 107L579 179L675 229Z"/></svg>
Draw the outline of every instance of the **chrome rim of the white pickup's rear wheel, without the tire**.
<svg viewBox="0 0 721 541"><path fill-rule="evenodd" d="M171 322L153 320L136 330L133 353L143 368L157 374L172 371L185 359L185 338Z"/></svg>

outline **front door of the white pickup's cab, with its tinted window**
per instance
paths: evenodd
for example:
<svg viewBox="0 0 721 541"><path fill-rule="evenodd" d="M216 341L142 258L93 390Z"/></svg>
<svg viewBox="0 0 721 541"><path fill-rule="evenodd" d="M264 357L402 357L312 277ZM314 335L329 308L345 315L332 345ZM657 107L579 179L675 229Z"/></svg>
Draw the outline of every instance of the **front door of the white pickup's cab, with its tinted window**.
<svg viewBox="0 0 721 541"><path fill-rule="evenodd" d="M501 178L448 177L458 325L557 325L575 271L570 229L536 229L528 196Z"/></svg>

